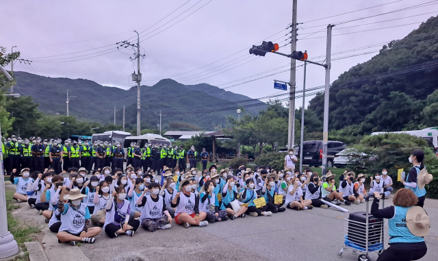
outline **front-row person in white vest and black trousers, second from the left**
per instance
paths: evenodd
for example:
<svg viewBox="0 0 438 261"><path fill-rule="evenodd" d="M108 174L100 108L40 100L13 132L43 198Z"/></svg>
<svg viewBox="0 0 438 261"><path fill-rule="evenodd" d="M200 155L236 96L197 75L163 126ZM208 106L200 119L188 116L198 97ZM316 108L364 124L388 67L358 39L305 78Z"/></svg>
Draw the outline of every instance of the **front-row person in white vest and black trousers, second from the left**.
<svg viewBox="0 0 438 261"><path fill-rule="evenodd" d="M116 238L120 234L133 236L137 231L140 221L129 219L131 203L126 200L126 190L123 186L117 187L108 199L105 207L105 224L103 229L110 238Z"/></svg>

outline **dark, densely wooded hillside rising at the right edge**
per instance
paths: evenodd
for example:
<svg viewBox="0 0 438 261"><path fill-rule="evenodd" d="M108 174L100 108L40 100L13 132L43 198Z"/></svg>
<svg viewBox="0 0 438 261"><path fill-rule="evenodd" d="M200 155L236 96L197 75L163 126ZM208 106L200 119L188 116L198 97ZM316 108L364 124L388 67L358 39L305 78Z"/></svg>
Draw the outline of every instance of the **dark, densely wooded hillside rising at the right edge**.
<svg viewBox="0 0 438 261"><path fill-rule="evenodd" d="M320 131L324 96L314 97L307 111L313 126L305 124ZM340 75L330 88L331 130L370 134L437 125L438 17L384 45L371 60Z"/></svg>

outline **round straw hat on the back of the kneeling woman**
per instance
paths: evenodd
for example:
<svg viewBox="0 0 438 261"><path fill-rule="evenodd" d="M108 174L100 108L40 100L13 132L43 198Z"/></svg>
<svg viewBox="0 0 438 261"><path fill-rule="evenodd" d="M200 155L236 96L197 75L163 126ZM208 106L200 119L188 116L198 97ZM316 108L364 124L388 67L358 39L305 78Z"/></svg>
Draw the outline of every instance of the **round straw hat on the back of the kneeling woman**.
<svg viewBox="0 0 438 261"><path fill-rule="evenodd" d="M430 229L430 219L422 207L413 206L406 213L406 225L414 236L426 236Z"/></svg>

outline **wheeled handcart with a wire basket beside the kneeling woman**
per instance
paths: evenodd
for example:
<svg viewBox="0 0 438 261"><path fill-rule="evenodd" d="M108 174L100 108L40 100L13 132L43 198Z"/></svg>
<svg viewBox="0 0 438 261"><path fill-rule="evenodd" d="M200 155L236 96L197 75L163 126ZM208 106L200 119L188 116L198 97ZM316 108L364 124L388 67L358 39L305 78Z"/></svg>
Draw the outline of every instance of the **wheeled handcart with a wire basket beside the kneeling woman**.
<svg viewBox="0 0 438 261"><path fill-rule="evenodd" d="M383 204L382 208L385 208L385 195L381 193ZM385 247L384 243L384 219L376 218L370 214L370 197L365 198L366 210L365 212L350 213L348 218L345 218L344 223L344 246L341 251L337 253L339 258L342 258L344 249L352 249L353 253L359 253L357 260L359 261L371 261L368 253L374 251L380 255Z"/></svg>

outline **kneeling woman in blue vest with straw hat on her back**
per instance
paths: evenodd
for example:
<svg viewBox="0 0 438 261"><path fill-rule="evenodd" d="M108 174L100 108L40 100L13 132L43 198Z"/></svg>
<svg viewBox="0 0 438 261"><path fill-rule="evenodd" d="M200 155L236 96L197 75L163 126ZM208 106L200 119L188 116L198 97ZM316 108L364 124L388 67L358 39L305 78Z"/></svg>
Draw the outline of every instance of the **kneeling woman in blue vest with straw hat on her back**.
<svg viewBox="0 0 438 261"><path fill-rule="evenodd" d="M417 206L418 197L409 188L401 188L394 195L394 206L379 209L381 193L374 192L371 214L376 218L388 219L389 247L377 261L419 260L427 252L424 242L430 229L430 219L423 208Z"/></svg>

